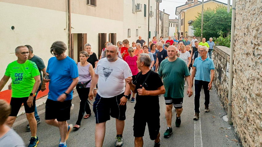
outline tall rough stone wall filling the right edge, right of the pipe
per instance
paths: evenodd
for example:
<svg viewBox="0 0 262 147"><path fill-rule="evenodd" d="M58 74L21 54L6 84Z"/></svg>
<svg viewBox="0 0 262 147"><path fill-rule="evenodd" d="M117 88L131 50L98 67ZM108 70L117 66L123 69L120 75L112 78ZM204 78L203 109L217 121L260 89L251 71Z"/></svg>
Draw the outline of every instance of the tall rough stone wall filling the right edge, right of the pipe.
<svg viewBox="0 0 262 147"><path fill-rule="evenodd" d="M262 146L262 3L237 0L232 122L243 146Z"/></svg>

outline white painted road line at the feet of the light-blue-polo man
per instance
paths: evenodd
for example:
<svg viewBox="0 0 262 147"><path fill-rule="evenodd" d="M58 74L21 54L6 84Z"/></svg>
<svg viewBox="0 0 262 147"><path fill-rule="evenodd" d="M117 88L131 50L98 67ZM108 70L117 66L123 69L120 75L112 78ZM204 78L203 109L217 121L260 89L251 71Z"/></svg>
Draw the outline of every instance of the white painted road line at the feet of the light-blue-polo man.
<svg viewBox="0 0 262 147"><path fill-rule="evenodd" d="M194 84L193 84L193 89L195 90ZM194 91L193 91L193 97L195 97ZM203 147L200 113L199 113L199 120L194 121L194 147Z"/></svg>

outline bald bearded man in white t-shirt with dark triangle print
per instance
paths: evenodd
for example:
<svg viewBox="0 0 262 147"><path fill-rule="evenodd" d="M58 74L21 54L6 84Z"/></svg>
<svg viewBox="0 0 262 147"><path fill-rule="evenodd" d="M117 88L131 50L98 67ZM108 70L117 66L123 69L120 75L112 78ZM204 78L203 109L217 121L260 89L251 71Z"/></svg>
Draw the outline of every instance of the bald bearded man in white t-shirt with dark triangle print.
<svg viewBox="0 0 262 147"><path fill-rule="evenodd" d="M126 79L132 77L128 64L117 57L117 46L108 46L106 58L101 59L96 66L93 75L89 99L93 100L93 89L98 84L98 91L94 101L93 111L96 115L96 147L102 147L105 136L105 123L110 116L116 118L117 142L116 146L122 146L122 134L125 126L126 101L130 92ZM110 87L110 88L108 88Z"/></svg>

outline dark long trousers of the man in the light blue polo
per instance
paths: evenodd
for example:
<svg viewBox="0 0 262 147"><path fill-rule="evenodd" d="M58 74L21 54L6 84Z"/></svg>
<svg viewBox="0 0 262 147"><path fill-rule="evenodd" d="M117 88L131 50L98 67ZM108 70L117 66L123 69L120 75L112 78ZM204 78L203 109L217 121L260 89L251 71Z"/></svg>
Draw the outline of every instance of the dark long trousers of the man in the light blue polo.
<svg viewBox="0 0 262 147"><path fill-rule="evenodd" d="M205 105L209 105L209 90L208 90L208 81L199 81L195 80L195 98L194 98L194 104L195 104L195 112L199 113L199 99L200 99L200 92L201 87L203 86L204 93L205 93Z"/></svg>

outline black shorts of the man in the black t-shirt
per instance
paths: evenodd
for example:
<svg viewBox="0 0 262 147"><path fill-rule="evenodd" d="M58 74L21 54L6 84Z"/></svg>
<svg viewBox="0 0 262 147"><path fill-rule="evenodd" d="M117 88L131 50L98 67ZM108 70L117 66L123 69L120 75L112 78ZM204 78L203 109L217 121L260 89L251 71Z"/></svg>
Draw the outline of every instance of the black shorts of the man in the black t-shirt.
<svg viewBox="0 0 262 147"><path fill-rule="evenodd" d="M158 137L160 129L159 109L144 113L144 110L135 110L134 114L134 137L143 137L147 123L149 136L151 140Z"/></svg>

